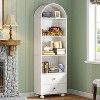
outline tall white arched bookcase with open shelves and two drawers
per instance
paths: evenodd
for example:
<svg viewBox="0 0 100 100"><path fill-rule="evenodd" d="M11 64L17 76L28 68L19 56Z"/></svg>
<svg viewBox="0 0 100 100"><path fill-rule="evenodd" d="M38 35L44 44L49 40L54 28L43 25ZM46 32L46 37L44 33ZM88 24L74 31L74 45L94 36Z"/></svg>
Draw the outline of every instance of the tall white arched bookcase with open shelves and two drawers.
<svg viewBox="0 0 100 100"><path fill-rule="evenodd" d="M55 3L34 14L34 93L67 93L67 15Z"/></svg>

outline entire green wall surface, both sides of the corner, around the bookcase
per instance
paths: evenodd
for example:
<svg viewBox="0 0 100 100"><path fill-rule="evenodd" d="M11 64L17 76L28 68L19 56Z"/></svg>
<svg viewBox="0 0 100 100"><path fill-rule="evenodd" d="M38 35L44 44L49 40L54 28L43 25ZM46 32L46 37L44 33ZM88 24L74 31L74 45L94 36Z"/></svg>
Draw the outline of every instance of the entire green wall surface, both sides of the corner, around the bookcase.
<svg viewBox="0 0 100 100"><path fill-rule="evenodd" d="M86 60L86 0L4 0L5 18L16 15L16 38L21 40L17 52L19 90L34 90L33 35L35 10L51 2L64 7L68 15L68 88L91 92L92 81L100 78L100 65L85 64Z"/></svg>

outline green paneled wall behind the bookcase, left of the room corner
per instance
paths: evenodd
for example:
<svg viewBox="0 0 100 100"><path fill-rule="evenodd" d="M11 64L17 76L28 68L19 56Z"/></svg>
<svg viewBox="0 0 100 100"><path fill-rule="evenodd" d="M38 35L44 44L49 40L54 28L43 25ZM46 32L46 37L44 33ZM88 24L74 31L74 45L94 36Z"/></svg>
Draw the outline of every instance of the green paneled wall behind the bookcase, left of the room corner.
<svg viewBox="0 0 100 100"><path fill-rule="evenodd" d="M68 82L71 84L71 1L70 0L4 0L4 19L9 13L14 14L17 19L18 27L16 34L17 39L21 40L21 45L17 47L17 69L18 83L21 92L32 92L34 90L34 55L33 55L33 34L35 10L42 4L58 3L64 7L68 14ZM4 34L4 37L7 34Z"/></svg>

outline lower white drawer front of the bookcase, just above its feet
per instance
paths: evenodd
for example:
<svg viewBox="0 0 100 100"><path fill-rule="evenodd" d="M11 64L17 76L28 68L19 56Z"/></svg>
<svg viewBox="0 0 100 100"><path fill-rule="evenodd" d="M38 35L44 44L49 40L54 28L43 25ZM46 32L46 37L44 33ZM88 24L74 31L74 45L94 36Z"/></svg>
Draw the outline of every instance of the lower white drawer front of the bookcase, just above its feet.
<svg viewBox="0 0 100 100"><path fill-rule="evenodd" d="M41 86L41 94L60 94L60 93L67 93L67 84L51 84L45 85L42 84Z"/></svg>

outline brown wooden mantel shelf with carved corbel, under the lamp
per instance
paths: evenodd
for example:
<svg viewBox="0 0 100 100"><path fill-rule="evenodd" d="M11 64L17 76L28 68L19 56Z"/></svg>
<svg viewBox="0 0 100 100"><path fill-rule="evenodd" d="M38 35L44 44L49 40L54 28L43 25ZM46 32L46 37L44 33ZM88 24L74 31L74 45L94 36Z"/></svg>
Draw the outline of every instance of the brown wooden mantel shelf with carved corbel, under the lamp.
<svg viewBox="0 0 100 100"><path fill-rule="evenodd" d="M20 40L0 40L1 46L9 46L9 55L13 56L16 52L16 46L20 45Z"/></svg>

